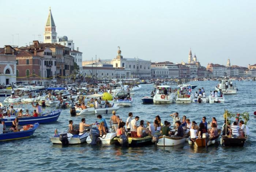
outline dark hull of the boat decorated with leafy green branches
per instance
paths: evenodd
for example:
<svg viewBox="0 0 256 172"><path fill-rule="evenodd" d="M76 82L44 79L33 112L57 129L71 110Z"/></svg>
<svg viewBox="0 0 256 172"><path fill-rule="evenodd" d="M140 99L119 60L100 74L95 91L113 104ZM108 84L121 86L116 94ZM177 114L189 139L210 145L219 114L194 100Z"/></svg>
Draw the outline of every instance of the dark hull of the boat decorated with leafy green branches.
<svg viewBox="0 0 256 172"><path fill-rule="evenodd" d="M245 142L248 140L249 136L246 137L231 137L231 136L222 136L220 138L220 144L223 146L239 146L243 147Z"/></svg>

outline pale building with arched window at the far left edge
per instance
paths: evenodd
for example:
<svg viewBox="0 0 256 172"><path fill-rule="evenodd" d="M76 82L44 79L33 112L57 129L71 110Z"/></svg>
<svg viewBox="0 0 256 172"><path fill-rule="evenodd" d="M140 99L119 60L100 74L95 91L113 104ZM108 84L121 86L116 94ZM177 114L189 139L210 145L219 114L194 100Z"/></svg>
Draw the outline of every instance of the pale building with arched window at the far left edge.
<svg viewBox="0 0 256 172"><path fill-rule="evenodd" d="M16 82L16 55L9 45L0 49L0 85Z"/></svg>

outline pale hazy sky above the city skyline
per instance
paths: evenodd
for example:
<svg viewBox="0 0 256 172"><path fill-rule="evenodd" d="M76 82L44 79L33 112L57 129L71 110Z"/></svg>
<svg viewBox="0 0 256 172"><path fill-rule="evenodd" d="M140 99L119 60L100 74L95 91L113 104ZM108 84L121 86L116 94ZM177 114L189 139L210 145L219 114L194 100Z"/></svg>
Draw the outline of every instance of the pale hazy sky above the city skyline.
<svg viewBox="0 0 256 172"><path fill-rule="evenodd" d="M57 36L73 39L83 60L112 59L120 46L124 58L180 63L191 47L204 66L256 63L254 0L1 1L0 46L43 41L49 6Z"/></svg>

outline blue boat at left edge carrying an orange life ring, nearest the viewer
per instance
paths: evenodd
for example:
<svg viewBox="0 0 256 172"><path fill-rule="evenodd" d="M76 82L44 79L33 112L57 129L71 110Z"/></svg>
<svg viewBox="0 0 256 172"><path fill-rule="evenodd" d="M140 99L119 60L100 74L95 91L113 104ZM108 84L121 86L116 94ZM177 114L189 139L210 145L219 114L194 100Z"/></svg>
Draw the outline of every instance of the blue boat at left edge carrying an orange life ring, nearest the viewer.
<svg viewBox="0 0 256 172"><path fill-rule="evenodd" d="M29 126L23 126L19 128L19 131L6 131L6 133L0 134L0 141L15 140L30 137L34 134L35 130L39 126L38 123Z"/></svg>

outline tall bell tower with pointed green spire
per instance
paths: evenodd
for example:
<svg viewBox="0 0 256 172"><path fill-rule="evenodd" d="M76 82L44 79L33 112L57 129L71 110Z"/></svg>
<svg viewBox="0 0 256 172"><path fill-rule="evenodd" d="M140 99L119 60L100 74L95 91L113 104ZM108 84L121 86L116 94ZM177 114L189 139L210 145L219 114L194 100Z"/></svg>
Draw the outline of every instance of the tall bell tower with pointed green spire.
<svg viewBox="0 0 256 172"><path fill-rule="evenodd" d="M56 26L52 17L51 7L44 27L44 43L57 43Z"/></svg>

